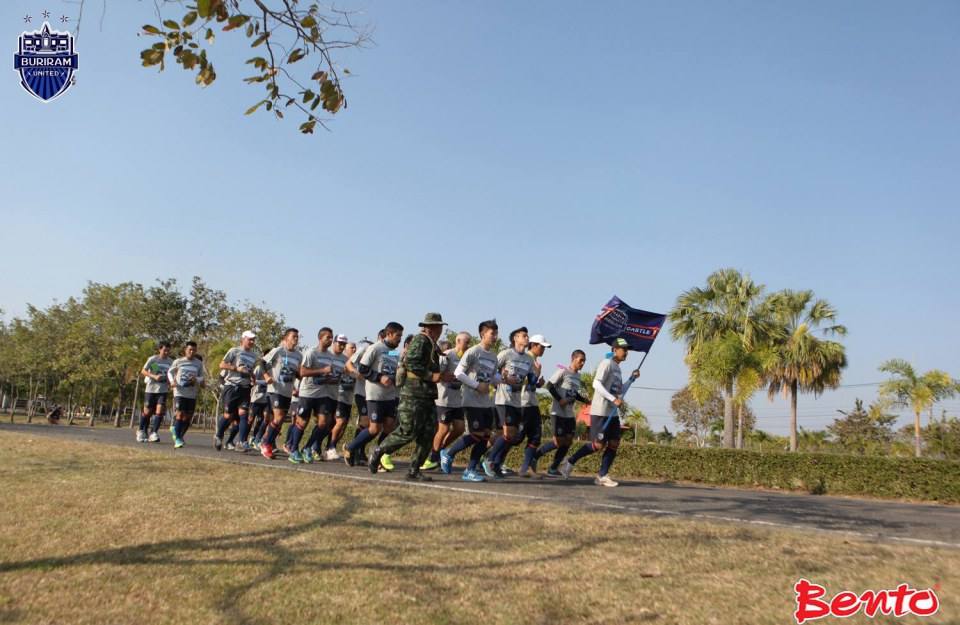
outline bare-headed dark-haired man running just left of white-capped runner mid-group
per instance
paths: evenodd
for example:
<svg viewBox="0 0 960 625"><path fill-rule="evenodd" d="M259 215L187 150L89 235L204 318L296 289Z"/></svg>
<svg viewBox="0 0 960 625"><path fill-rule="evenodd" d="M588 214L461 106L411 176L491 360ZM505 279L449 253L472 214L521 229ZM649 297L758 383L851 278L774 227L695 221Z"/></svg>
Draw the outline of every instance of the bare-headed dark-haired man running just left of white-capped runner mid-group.
<svg viewBox="0 0 960 625"><path fill-rule="evenodd" d="M290 427L290 462L313 462L315 450L333 427L333 415L337 411L337 386L343 373L343 347L334 345L333 330L320 328L317 333L317 346L311 347L303 355L300 365L300 403L297 418ZM317 415L317 423L303 448L298 449L304 429L310 423L310 416Z"/></svg>

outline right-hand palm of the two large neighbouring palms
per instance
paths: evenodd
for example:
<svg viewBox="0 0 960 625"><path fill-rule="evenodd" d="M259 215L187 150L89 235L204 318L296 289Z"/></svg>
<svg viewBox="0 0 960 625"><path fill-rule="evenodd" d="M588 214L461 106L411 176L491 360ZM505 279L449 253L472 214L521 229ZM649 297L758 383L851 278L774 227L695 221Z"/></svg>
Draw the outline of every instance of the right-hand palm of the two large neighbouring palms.
<svg viewBox="0 0 960 625"><path fill-rule="evenodd" d="M821 328L825 335L843 336L847 329L835 323L837 311L826 300L814 299L813 291L779 291L769 304L781 332L767 367L768 393L772 399L782 392L790 400L790 451L796 451L797 396L837 388L847 366L843 345L818 338L814 331L825 323L832 324Z"/></svg>

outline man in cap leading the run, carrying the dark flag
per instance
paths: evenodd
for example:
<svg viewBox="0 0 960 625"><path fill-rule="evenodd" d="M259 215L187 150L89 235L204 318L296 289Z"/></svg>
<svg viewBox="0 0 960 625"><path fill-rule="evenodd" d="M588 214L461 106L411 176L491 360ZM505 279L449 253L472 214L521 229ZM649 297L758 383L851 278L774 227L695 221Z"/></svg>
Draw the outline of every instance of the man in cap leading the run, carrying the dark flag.
<svg viewBox="0 0 960 625"><path fill-rule="evenodd" d="M613 342L613 358L604 358L597 371L593 374L593 402L590 404L590 442L577 450L568 460L560 465L560 474L564 479L570 477L573 465L580 458L603 449L603 458L600 460L600 472L594 483L598 486L618 486L607 473L617 456L620 447L620 416L611 417L614 409L623 405L623 375L620 372L620 363L627 359L630 344L625 339ZM634 378L640 375L636 370L631 374Z"/></svg>

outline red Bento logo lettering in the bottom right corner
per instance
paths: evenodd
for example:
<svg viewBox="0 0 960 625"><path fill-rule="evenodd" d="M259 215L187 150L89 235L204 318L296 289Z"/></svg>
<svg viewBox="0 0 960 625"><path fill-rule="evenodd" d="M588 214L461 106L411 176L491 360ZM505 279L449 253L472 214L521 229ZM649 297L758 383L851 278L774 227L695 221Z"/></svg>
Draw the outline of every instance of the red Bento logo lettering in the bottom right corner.
<svg viewBox="0 0 960 625"><path fill-rule="evenodd" d="M797 593L797 611L793 613L797 625L827 616L846 618L861 610L874 618L877 614L902 618L904 616L932 616L940 609L940 599L933 588L916 590L900 584L895 590L867 590L859 595L839 592L832 599L822 599L827 589L806 579L793 586ZM938 588L939 590L939 588Z"/></svg>

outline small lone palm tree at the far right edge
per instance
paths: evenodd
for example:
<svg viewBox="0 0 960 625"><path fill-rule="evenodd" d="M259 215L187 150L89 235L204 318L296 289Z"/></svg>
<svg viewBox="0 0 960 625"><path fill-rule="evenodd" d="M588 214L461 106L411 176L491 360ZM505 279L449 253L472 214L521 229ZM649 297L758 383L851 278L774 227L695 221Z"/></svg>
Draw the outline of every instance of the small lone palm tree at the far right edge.
<svg viewBox="0 0 960 625"><path fill-rule="evenodd" d="M880 371L894 376L880 385L880 397L913 411L914 455L919 458L920 413L932 408L936 402L960 392L960 382L951 379L946 371L939 369L917 375L913 365L900 358L886 361L880 365Z"/></svg>

